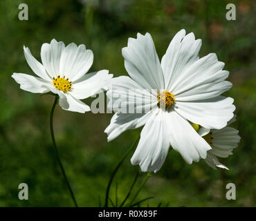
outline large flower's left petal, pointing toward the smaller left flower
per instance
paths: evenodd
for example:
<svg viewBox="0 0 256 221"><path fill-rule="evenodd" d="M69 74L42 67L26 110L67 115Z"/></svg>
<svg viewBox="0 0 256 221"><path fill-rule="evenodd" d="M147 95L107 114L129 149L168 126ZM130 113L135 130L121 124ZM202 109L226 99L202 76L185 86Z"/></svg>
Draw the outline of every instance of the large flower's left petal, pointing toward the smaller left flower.
<svg viewBox="0 0 256 221"><path fill-rule="evenodd" d="M156 91L143 89L130 77L115 77L107 87L108 108L118 113L147 113L158 103Z"/></svg>

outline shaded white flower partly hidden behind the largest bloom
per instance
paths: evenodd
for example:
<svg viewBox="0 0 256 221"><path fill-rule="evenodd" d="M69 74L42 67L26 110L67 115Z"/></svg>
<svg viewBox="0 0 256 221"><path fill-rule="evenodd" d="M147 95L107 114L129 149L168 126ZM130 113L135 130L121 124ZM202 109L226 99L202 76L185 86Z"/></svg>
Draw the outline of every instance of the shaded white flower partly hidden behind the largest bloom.
<svg viewBox="0 0 256 221"><path fill-rule="evenodd" d="M235 122L235 117L236 116L230 119L228 125L220 130L209 130L201 127L198 131L199 135L201 135L201 137L203 137L212 147L212 149L207 152L207 157L204 160L215 170L216 166L228 170L228 167L219 162L218 157L226 158L229 155L232 155L233 149L238 146L241 139L238 135L239 131L229 127L232 122Z"/></svg>

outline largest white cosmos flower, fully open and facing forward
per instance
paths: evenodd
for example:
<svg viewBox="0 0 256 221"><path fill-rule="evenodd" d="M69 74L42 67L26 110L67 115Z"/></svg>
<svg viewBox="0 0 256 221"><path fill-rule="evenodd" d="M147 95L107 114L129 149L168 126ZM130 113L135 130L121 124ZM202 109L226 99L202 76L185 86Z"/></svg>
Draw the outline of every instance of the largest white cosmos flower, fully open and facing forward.
<svg viewBox="0 0 256 221"><path fill-rule="evenodd" d="M214 53L199 59L200 48L201 39L196 40L193 33L185 35L185 30L174 36L161 62L149 33L138 33L137 39L129 38L128 46L122 48L130 77L111 79L107 96L113 104L116 102L114 94L120 94L118 100L130 106L133 98L129 95L134 94L129 91L143 91L143 107L152 106L152 109L134 114L120 113L113 107L117 113L105 133L111 141L128 129L145 125L131 158L131 164L139 164L142 171L158 171L170 145L188 164L205 159L211 146L196 133L190 122L220 129L233 117L233 99L220 96L232 86L224 81L229 73L222 70L224 63L218 61ZM165 109L158 107L158 96L160 102L166 97Z"/></svg>

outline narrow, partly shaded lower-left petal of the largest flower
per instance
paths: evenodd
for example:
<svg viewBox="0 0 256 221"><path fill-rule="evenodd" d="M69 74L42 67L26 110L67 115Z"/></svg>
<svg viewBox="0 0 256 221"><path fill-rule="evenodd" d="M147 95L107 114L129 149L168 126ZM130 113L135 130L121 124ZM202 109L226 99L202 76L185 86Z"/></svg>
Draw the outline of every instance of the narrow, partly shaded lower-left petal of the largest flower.
<svg viewBox="0 0 256 221"><path fill-rule="evenodd" d="M158 113L158 108L154 108L154 110L148 113L115 113L111 118L109 126L104 131L108 135L107 141L110 142L124 131L143 126L149 120L149 117L156 115L156 113Z"/></svg>

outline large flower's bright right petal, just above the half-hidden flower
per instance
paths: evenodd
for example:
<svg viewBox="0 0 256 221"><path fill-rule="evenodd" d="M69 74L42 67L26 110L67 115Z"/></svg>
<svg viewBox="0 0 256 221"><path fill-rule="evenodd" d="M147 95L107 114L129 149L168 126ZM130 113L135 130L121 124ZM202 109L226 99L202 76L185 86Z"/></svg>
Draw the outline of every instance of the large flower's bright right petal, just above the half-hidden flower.
<svg viewBox="0 0 256 221"><path fill-rule="evenodd" d="M175 102L174 109L194 124L205 128L223 128L233 117L235 106L231 97L215 97L194 102Z"/></svg>

